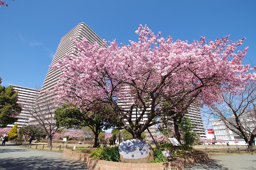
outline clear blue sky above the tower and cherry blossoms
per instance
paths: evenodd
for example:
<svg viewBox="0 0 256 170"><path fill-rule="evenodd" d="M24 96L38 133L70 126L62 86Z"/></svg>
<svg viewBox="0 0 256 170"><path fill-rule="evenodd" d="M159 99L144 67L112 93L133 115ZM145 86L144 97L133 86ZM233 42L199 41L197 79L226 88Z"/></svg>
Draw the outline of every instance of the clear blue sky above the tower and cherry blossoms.
<svg viewBox="0 0 256 170"><path fill-rule="evenodd" d="M256 1L4 0L0 8L2 86L41 87L61 38L84 22L107 41L137 41L140 24L174 40L246 37L244 63L255 64Z"/></svg>

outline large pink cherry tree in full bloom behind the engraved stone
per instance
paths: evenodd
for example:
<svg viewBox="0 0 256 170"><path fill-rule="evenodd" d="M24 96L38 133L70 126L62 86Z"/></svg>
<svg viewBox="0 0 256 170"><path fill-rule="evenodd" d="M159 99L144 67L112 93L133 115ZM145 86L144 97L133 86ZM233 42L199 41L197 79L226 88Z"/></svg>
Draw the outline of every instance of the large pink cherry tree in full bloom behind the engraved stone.
<svg viewBox="0 0 256 170"><path fill-rule="evenodd" d="M140 138L148 127L172 119L190 104L210 105L220 100L216 93L239 90L243 82L255 79L248 73L250 66L242 64L248 47L236 51L244 39L174 42L142 25L136 34L138 42L118 46L113 40L107 48L105 40L90 44L86 38L74 39L74 55L51 66L62 71L55 86L57 99L81 108L108 103L133 138ZM165 102L168 107L161 107ZM174 115L157 119L170 110ZM142 121L144 116L148 119Z"/></svg>

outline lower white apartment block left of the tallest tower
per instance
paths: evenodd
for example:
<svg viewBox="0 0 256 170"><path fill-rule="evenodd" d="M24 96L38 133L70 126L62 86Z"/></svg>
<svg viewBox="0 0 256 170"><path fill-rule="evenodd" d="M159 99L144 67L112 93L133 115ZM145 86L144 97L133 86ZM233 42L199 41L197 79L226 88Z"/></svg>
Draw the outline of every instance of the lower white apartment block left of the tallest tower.
<svg viewBox="0 0 256 170"><path fill-rule="evenodd" d="M11 125L7 125L7 127L13 127L16 123L18 124L18 127L23 127L28 125L28 120L30 118L30 112L28 111L29 108L32 107L34 104L34 100L36 99L36 96L39 93L39 90L37 89L30 89L26 87L20 87L16 85L10 85L14 87L15 91L18 91L18 101L17 103L21 106L22 111L17 116L18 120Z"/></svg>

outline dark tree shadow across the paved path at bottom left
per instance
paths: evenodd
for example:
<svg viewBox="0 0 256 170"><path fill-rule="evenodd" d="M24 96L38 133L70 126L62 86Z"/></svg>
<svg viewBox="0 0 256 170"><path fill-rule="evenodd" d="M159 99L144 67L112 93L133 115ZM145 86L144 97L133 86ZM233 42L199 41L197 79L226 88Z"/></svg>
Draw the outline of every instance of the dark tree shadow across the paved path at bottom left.
<svg viewBox="0 0 256 170"><path fill-rule="evenodd" d="M1 170L81 170L86 164L65 158L42 158L32 156L28 158L6 158L0 162Z"/></svg>

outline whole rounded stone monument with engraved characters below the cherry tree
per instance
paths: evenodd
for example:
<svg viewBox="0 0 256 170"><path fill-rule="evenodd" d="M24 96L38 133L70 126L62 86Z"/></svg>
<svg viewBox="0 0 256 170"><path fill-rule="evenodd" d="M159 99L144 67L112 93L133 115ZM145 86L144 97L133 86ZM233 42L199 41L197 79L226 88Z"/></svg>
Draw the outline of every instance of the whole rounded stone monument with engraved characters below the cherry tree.
<svg viewBox="0 0 256 170"><path fill-rule="evenodd" d="M150 163L154 160L154 152L150 144L138 140L128 139L118 146L121 162Z"/></svg>

